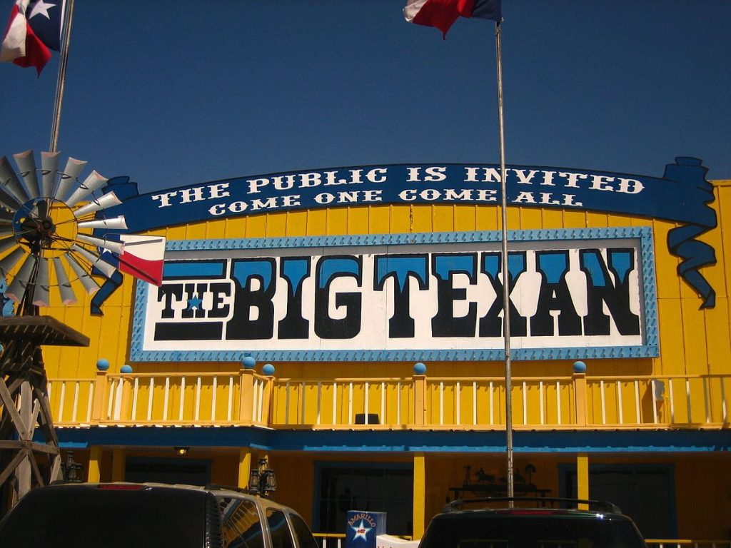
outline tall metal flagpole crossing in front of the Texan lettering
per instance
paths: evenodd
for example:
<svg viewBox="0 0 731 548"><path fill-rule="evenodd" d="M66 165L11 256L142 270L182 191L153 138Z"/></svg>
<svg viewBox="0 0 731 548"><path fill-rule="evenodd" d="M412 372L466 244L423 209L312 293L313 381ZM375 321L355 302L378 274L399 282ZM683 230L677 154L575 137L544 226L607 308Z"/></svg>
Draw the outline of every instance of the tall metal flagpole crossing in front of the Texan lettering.
<svg viewBox="0 0 731 548"><path fill-rule="evenodd" d="M505 134L502 98L502 44L500 21L495 23L495 45L498 67L498 120L500 132L500 192L502 213L502 272L503 272L503 338L505 340L505 447L507 457L507 495L515 495L512 471L512 372L510 370L510 274L507 256L507 181L505 173ZM511 505L512 506L512 505Z"/></svg>

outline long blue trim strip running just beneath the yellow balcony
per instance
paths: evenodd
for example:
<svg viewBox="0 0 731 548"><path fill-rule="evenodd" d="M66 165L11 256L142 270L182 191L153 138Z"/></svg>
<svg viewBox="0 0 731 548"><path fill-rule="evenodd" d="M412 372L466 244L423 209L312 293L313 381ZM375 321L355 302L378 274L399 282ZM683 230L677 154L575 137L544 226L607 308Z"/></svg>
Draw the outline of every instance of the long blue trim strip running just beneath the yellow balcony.
<svg viewBox="0 0 731 548"><path fill-rule="evenodd" d="M64 449L92 445L251 447L265 451L351 453L504 452L502 431L268 430L255 427L57 428ZM517 453L729 452L731 430L523 431L513 433Z"/></svg>

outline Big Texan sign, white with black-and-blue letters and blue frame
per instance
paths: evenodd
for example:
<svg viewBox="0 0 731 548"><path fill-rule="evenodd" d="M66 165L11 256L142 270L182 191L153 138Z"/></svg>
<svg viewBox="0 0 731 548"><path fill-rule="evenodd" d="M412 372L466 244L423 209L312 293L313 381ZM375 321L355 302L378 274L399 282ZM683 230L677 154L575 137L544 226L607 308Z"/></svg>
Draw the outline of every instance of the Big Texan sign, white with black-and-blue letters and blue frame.
<svg viewBox="0 0 731 548"><path fill-rule="evenodd" d="M510 241L516 359L657 355L650 229ZM500 359L504 279L499 232L172 243L132 358Z"/></svg>

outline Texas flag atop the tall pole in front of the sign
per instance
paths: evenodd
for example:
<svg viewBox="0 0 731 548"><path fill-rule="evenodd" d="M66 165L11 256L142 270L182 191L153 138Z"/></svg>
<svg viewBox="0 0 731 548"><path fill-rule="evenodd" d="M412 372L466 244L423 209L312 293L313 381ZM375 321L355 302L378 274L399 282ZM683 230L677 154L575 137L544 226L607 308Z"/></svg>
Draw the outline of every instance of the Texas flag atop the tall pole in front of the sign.
<svg viewBox="0 0 731 548"><path fill-rule="evenodd" d="M460 17L502 19L501 0L408 0L404 17L409 23L433 26L447 37L452 23Z"/></svg>

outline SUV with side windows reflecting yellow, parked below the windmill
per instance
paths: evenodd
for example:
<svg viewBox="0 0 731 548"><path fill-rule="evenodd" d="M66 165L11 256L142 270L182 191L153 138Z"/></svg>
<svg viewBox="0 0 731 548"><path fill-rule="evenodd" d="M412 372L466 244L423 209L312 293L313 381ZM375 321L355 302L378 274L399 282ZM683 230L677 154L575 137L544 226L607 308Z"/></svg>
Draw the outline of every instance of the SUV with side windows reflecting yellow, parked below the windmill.
<svg viewBox="0 0 731 548"><path fill-rule="evenodd" d="M294 510L221 487L61 484L33 490L0 522L12 548L317 548Z"/></svg>

